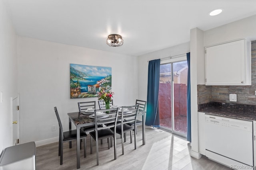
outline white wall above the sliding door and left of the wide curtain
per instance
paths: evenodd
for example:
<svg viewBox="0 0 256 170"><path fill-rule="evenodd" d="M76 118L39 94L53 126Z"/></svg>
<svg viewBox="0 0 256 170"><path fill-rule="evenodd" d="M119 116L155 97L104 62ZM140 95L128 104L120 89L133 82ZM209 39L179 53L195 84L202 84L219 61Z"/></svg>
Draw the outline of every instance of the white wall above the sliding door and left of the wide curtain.
<svg viewBox="0 0 256 170"><path fill-rule="evenodd" d="M183 43L138 57L138 99L147 100L148 61L190 52L190 43Z"/></svg>

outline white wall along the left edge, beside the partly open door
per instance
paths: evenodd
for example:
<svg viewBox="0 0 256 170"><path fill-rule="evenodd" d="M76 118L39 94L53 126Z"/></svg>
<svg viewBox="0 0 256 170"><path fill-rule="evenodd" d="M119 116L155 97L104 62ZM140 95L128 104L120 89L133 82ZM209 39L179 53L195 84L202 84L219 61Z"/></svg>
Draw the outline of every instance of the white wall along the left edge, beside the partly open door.
<svg viewBox="0 0 256 170"><path fill-rule="evenodd" d="M0 92L3 92L3 102L0 102L0 152L11 146L10 98L18 94L17 37L6 9L6 2L0 0Z"/></svg>

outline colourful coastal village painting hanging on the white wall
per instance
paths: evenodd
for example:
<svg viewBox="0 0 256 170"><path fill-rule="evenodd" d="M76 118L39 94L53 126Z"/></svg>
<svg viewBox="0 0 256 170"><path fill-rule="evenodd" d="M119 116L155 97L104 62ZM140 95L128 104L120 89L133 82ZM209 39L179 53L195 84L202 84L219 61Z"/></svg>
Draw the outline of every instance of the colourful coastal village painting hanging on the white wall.
<svg viewBox="0 0 256 170"><path fill-rule="evenodd" d="M111 92L111 67L70 64L70 98L98 97L100 90Z"/></svg>

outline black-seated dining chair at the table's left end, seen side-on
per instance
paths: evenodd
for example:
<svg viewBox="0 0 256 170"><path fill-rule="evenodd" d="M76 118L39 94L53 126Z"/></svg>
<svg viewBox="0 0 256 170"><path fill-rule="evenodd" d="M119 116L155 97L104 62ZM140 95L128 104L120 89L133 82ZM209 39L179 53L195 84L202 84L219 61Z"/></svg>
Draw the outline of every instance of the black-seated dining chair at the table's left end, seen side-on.
<svg viewBox="0 0 256 170"><path fill-rule="evenodd" d="M59 156L60 156L60 165L62 165L63 164L63 143L76 140L76 130L70 130L70 131L64 132L57 107L54 107L54 111L59 123ZM80 139L84 139L84 158L86 158L86 137L87 137L86 132L80 129Z"/></svg>

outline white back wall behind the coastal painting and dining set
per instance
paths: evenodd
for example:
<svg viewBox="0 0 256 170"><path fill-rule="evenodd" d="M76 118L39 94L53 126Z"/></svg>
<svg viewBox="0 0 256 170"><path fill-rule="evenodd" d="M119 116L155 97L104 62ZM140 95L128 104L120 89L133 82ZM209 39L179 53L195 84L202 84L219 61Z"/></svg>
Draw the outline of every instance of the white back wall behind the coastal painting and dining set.
<svg viewBox="0 0 256 170"><path fill-rule="evenodd" d="M36 141L40 146L57 141L54 106L67 131L67 113L78 111L77 102L98 101L97 98L70 99L70 63L112 67L114 104L135 104L137 57L18 37L21 143ZM52 125L56 125L56 131L52 131Z"/></svg>

